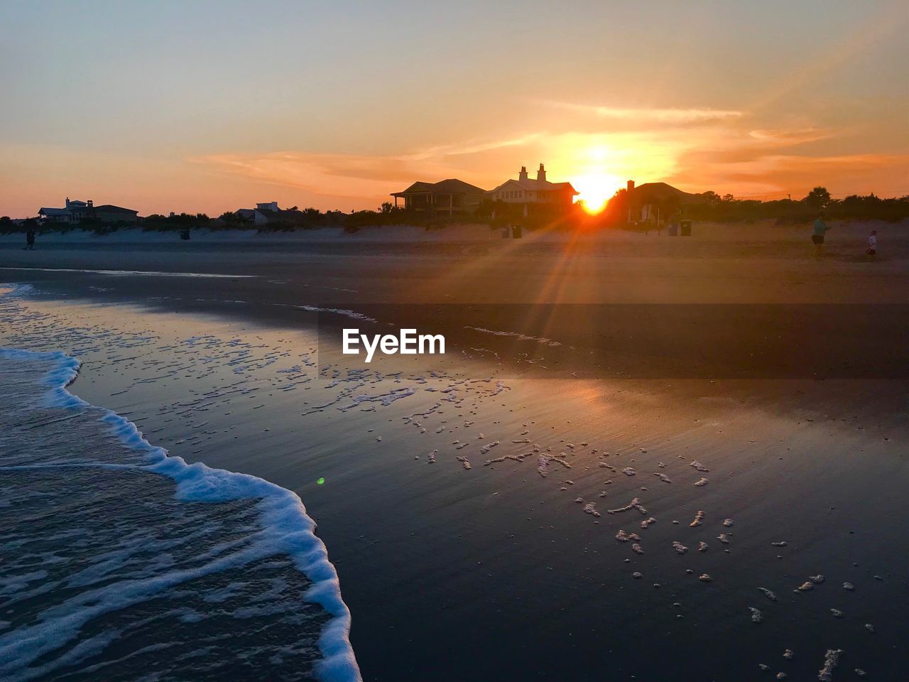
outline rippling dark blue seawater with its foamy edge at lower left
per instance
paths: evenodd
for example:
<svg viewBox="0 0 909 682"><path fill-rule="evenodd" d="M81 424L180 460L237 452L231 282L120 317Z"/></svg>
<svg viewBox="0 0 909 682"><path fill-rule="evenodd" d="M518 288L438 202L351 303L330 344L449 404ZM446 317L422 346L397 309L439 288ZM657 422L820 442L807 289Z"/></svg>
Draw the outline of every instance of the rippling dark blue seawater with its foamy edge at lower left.
<svg viewBox="0 0 909 682"><path fill-rule="evenodd" d="M359 679L299 497L167 456L78 368L0 349L0 679Z"/></svg>

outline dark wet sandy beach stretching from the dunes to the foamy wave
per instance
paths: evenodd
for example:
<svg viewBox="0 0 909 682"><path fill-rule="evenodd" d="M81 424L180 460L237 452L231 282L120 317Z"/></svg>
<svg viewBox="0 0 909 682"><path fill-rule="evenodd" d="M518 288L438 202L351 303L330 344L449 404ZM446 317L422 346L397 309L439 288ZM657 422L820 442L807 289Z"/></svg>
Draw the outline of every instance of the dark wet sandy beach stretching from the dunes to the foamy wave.
<svg viewBox="0 0 909 682"><path fill-rule="evenodd" d="M474 229L388 242L122 237L35 252L5 241L0 266L13 269L0 281L34 286L19 305L37 317L0 344L79 356L71 390L153 444L298 493L367 680L802 679L828 649L844 650L834 679L855 668L899 679L909 394L904 377L873 370L904 348L909 239L879 227L882 256L865 262L866 227L838 226L820 260L804 230L771 226L520 242ZM391 360L351 376L319 346L316 317L333 314L300 309L406 315L407 304L446 304L457 352L401 376ZM876 306L878 337L857 368L762 377L766 366L736 376L724 353L687 374L680 356L654 376L665 336L643 336L621 378L584 375L567 348L588 334L583 320L574 337L552 318L520 330L533 339L477 336L457 332L475 322L465 304L851 304ZM744 336L771 331L751 323ZM115 343L92 343L98 330ZM672 330L683 342L710 331ZM823 357L862 353L854 336L805 340L823 342ZM181 363L175 348L197 337L196 362ZM531 356L565 366L528 369ZM224 393L235 382L247 392Z"/></svg>

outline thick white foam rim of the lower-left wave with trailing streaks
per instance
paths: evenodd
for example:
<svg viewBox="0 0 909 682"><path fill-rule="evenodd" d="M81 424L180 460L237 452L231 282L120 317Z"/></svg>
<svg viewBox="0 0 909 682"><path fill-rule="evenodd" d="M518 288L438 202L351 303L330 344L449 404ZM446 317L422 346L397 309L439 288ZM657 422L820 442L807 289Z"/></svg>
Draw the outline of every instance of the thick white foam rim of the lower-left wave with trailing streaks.
<svg viewBox="0 0 909 682"><path fill-rule="evenodd" d="M295 569L309 580L305 600L318 604L329 616L318 637L322 658L315 662L316 676L327 682L361 679L348 637L350 612L341 597L335 567L328 560L322 540L315 536L315 522L307 516L299 496L256 476L213 469L202 463L187 465L182 457L168 456L164 448L145 440L135 424L124 416L91 406L66 390L79 370L79 361L75 357L59 352L33 353L0 348L0 361L49 367L41 379L44 390L40 406L74 411L76 414L73 417L82 416L86 421L98 415L108 433L126 446L125 459L118 462L82 458L69 462L39 460L38 464L27 466L76 466L95 468L99 472L134 471L166 476L176 484L177 500L190 503L245 501L255 508L258 525L261 526L251 536L250 542L238 551L210 557L210 560L192 569L162 569L160 575L125 587L102 589L93 603L86 602L72 613L58 614L52 623L39 620L0 637L0 677L15 678L14 673L21 672L30 662L38 661L63 642L78 637L80 628L91 618L154 597L157 592L188 580L247 566L269 557L285 556L290 557ZM11 470L21 466L3 468Z"/></svg>

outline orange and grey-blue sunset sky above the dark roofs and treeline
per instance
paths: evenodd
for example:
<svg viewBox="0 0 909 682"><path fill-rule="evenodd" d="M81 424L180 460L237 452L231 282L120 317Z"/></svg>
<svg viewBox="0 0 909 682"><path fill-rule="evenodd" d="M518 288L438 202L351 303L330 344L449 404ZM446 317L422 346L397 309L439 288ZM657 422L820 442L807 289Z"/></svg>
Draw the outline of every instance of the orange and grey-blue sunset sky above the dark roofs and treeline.
<svg viewBox="0 0 909 682"><path fill-rule="evenodd" d="M375 209L544 162L909 195L909 3L0 0L0 216Z"/></svg>

